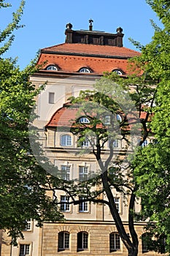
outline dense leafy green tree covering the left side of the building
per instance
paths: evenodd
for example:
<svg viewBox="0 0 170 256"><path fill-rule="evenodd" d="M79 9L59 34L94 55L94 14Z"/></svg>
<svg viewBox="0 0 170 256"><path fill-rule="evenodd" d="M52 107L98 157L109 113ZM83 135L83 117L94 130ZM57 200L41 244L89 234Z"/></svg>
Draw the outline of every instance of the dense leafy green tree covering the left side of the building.
<svg viewBox="0 0 170 256"><path fill-rule="evenodd" d="M0 42L7 41L20 27L23 6L21 1L12 23L1 31ZM0 1L0 7L9 4ZM9 48L13 39L9 37L0 53ZM29 76L38 70L35 63L20 71L15 60L0 59L0 229L8 231L13 244L18 236L23 237L27 219L35 219L39 226L45 220L63 219L58 204L46 194L50 177L36 162L28 138L31 110L42 89L36 90L29 82Z"/></svg>

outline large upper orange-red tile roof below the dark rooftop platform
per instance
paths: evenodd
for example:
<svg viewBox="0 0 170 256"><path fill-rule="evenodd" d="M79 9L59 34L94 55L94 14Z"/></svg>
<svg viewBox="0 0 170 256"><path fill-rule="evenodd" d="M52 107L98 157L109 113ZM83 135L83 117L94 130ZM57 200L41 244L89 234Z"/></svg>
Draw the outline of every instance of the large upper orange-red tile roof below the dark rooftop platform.
<svg viewBox="0 0 170 256"><path fill-rule="evenodd" d="M47 61L44 68L54 64L61 72L79 72L80 68L88 67L95 75L114 69L127 75L128 59L139 55L139 52L124 47L63 43L42 49L38 64Z"/></svg>

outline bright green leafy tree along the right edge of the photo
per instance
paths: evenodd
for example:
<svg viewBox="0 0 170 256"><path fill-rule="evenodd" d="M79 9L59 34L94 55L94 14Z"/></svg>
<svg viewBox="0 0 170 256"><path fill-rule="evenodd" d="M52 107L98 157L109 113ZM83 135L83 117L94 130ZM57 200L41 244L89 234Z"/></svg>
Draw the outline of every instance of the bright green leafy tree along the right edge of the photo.
<svg viewBox="0 0 170 256"><path fill-rule="evenodd" d="M147 233L155 236L151 247L158 252L170 252L169 220L169 61L170 4L169 1L147 1L163 23L155 27L152 42L143 49L146 71L155 80L155 105L152 108L151 129L155 140L136 155L134 174L142 197L142 214L150 217ZM140 162L142 161L142 162Z"/></svg>

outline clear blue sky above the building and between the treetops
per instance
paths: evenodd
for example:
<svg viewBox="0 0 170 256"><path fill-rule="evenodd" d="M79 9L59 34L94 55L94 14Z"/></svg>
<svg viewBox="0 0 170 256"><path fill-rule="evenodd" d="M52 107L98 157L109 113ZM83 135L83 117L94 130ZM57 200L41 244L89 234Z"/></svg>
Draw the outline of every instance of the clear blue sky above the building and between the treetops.
<svg viewBox="0 0 170 256"><path fill-rule="evenodd" d="M12 20L20 0L8 0L12 7L2 8L1 28ZM88 20L93 19L93 30L116 33L123 28L123 46L136 50L129 37L146 45L152 40L154 30L150 19L158 25L158 18L145 0L26 0L21 24L25 26L15 32L15 41L4 55L18 57L20 69L26 67L41 48L58 45L65 41L66 23L74 30L88 29Z"/></svg>

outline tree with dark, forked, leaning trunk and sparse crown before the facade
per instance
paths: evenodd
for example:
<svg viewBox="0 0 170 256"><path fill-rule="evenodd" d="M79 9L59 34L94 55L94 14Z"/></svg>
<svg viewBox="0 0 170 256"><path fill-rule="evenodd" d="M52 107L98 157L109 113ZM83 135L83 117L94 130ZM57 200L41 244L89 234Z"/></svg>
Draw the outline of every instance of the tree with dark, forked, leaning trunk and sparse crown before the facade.
<svg viewBox="0 0 170 256"><path fill-rule="evenodd" d="M133 86L133 90L131 86ZM80 203L80 200L76 200L74 196L77 191L84 201L107 204L120 237L128 249L129 256L138 254L139 241L134 227L134 204L138 184L135 183L133 168L127 155L132 142L136 141L137 143L140 138L143 143L150 133L150 129L147 129L147 122L150 118L149 110L144 110L143 106L149 103L152 105L154 97L155 89L148 86L145 75L139 77L135 75L123 80L123 78L111 74L101 78L96 83L94 91L82 91L80 97L71 98L72 108L79 106L79 113L89 119L87 124L81 123L79 119L75 120L71 131L78 136L79 143L85 140L89 141L90 151L96 157L100 173L97 173L95 178L92 173L92 176L88 177L88 181L80 183L79 186L76 184L74 190L67 187L66 192L72 198L70 203ZM138 120L144 111L142 133L139 134L141 127L139 127ZM116 122L117 114L120 114L121 120ZM108 120L107 122L105 120L106 116L110 117L109 123ZM115 157L113 145L117 138L124 142L125 146ZM104 148L108 142L109 151L106 154ZM85 152L83 151L83 153ZM131 238L125 230L123 220L115 205L114 195L117 192L122 193L123 197L128 197L130 200L128 227ZM107 195L106 199L102 199L102 193Z"/></svg>

